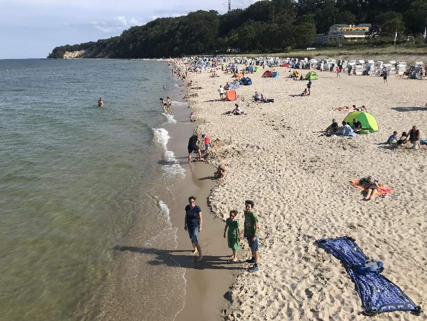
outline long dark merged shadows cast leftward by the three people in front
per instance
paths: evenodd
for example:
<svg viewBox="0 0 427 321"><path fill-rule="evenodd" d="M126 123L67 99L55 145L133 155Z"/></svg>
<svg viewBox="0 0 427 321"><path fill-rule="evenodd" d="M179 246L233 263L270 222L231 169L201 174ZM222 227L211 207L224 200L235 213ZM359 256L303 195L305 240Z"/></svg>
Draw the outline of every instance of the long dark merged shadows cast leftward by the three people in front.
<svg viewBox="0 0 427 321"><path fill-rule="evenodd" d="M196 262L197 256L192 256L189 250L160 250L155 248L139 248L127 246L115 246L116 251L130 251L140 254L154 254L156 258L148 261L150 265L167 265L170 267L182 267L185 269L222 269L222 270L242 270L236 266L236 262L228 260L228 256L203 255L203 260ZM188 253L185 255L184 253Z"/></svg>

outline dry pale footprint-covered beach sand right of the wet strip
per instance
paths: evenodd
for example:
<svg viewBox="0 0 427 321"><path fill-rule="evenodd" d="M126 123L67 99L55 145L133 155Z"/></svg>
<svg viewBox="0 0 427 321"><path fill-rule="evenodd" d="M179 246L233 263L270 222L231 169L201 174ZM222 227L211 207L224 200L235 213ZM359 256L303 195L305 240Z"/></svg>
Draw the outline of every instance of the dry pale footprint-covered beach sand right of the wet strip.
<svg viewBox="0 0 427 321"><path fill-rule="evenodd" d="M425 314L415 317L409 312L363 316L344 267L314 242L354 237L368 257L384 262L384 276L417 305L425 305L427 147L390 150L383 143L393 130L400 135L412 125L427 138L427 81L392 74L383 84L382 77L341 73L337 78L333 72L318 72L310 97L290 97L301 93L307 81L285 78L288 68L275 70L280 72L278 79L261 78L262 71L250 74L253 85L237 90L237 102L219 101L217 89L232 81L221 70L218 78L206 72L189 73L187 78L193 80L193 88L201 87L189 94L197 93L190 98L201 119L197 132L212 140L215 157L209 162L227 170L209 196L213 213L225 219L236 208L243 223L244 202L252 199L259 218L260 270L244 270L235 278L225 319L426 319ZM308 70L302 71L305 75ZM255 91L275 102L251 102ZM234 103L247 115L223 115ZM355 138L321 136L332 118L341 124L347 115L334 109L353 104L369 108L379 131ZM363 201L350 180L370 175L394 192ZM224 242L221 232L209 242ZM239 254L250 257L246 243Z"/></svg>

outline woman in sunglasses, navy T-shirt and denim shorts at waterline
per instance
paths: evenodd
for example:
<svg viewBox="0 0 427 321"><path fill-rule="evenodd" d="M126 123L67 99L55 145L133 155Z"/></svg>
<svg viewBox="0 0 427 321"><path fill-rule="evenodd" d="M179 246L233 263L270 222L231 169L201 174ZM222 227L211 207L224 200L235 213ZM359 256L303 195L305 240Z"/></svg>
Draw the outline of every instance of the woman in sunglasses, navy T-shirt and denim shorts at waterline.
<svg viewBox="0 0 427 321"><path fill-rule="evenodd" d="M196 205L196 198L194 196L190 196L188 198L188 205L185 206L185 221L184 221L184 229L188 231L188 235L191 239L191 244L193 245L193 255L198 252L197 262L200 262L203 259L201 255L201 248L198 243L198 233L201 232L201 209L198 205Z"/></svg>

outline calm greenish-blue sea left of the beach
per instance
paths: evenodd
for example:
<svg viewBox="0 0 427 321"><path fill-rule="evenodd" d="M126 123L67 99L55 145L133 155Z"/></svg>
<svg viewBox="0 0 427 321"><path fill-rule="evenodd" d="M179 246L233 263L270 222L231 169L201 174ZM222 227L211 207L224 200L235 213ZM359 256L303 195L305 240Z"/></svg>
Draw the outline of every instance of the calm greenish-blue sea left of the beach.
<svg viewBox="0 0 427 321"><path fill-rule="evenodd" d="M0 60L0 319L174 319L182 95L163 61Z"/></svg>

